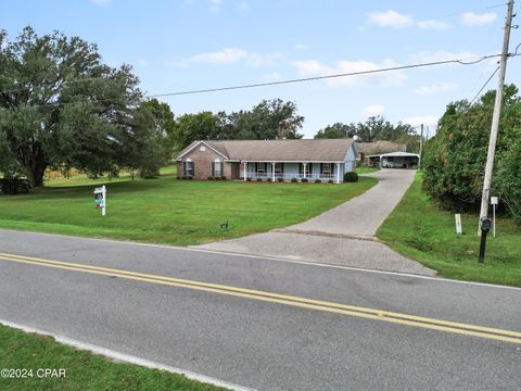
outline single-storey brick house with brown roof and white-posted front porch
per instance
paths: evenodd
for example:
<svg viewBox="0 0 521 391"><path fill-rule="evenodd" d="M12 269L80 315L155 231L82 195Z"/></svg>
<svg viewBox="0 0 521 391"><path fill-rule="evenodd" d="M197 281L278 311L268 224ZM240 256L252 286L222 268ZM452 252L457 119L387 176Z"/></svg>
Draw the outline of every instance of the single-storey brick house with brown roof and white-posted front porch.
<svg viewBox="0 0 521 391"><path fill-rule="evenodd" d="M352 139L194 141L177 156L181 177L343 181L356 168ZM279 179L281 178L281 179Z"/></svg>

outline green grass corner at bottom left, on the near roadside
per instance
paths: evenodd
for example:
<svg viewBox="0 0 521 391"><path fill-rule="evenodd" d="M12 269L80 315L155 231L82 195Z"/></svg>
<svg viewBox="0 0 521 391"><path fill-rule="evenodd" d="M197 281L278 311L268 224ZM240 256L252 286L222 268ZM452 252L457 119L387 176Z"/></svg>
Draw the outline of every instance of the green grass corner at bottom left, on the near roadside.
<svg viewBox="0 0 521 391"><path fill-rule="evenodd" d="M87 351L0 325L0 367L33 369L33 377L0 377L1 390L224 390L164 370L112 362ZM39 368L65 369L64 378L39 378Z"/></svg>

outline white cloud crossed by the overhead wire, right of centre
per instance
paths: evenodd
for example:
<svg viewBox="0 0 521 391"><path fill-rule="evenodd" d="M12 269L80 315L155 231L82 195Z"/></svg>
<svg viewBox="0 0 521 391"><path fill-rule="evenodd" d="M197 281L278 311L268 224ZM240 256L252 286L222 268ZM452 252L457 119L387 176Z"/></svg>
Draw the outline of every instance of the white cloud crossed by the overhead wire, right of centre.
<svg viewBox="0 0 521 391"><path fill-rule="evenodd" d="M318 60L295 61L292 65L302 77L314 77L336 74L351 74L367 71L374 71L383 67L393 67L397 64L385 60L380 64L369 61L338 61L332 66L326 65ZM403 72L393 71L367 75L343 76L326 79L330 87L345 86L355 87L363 84L377 84L379 86L399 86L407 78Z"/></svg>

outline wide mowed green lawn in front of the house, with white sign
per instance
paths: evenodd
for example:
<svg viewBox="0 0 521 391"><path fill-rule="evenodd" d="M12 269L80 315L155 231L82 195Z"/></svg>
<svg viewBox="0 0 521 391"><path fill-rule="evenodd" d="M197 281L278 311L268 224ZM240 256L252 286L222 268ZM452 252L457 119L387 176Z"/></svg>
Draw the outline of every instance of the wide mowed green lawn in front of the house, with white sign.
<svg viewBox="0 0 521 391"><path fill-rule="evenodd" d="M107 187L107 214L94 209L94 186ZM285 227L374 186L82 177L43 190L0 197L0 228L135 241L198 244ZM228 222L228 228L220 225Z"/></svg>

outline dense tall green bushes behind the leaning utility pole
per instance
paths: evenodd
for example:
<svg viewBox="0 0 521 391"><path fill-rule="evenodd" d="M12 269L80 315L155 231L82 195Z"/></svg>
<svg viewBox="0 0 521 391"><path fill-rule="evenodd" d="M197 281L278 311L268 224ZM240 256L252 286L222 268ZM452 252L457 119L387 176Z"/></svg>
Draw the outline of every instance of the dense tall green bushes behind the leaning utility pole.
<svg viewBox="0 0 521 391"><path fill-rule="evenodd" d="M491 90L474 104L448 104L425 144L424 187L446 209L480 209L495 96ZM504 90L492 195L521 224L521 98L513 85Z"/></svg>

